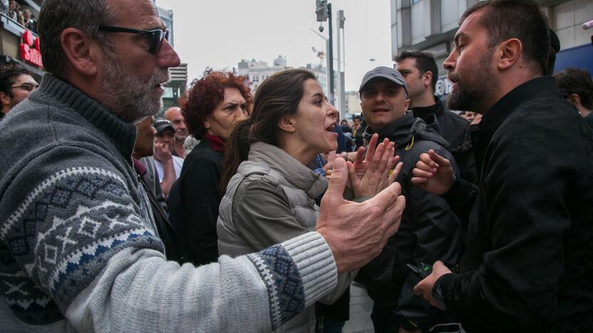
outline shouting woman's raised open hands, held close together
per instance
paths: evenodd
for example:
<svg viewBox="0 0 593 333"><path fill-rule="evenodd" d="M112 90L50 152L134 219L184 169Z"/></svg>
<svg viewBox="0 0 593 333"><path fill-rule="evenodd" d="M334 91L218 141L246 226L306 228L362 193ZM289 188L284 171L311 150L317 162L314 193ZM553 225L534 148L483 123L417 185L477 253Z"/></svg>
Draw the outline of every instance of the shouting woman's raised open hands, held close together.
<svg viewBox="0 0 593 333"><path fill-rule="evenodd" d="M354 196L361 198L363 196L374 196L389 184L396 181L396 178L403 166L398 163L399 157L394 157L395 148L393 142L384 139L383 142L375 145L378 139L377 134L371 137L371 143L368 144L368 152L362 161L361 154L357 154L354 164L348 163L349 181L354 190ZM356 168L356 164L359 168ZM395 169L393 169L395 167ZM364 173L360 174L361 169ZM391 176L389 171L393 169Z"/></svg>

